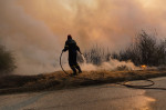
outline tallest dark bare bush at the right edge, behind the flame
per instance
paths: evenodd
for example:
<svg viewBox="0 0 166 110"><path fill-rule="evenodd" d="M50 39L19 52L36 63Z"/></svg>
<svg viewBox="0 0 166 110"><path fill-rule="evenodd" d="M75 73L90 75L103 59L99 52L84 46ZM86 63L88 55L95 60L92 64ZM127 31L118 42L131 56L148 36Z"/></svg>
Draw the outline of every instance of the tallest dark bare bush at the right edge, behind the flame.
<svg viewBox="0 0 166 110"><path fill-rule="evenodd" d="M121 61L132 60L136 66L160 66L166 61L166 41L158 41L155 34L145 31L138 33L134 42L120 52L117 59Z"/></svg>

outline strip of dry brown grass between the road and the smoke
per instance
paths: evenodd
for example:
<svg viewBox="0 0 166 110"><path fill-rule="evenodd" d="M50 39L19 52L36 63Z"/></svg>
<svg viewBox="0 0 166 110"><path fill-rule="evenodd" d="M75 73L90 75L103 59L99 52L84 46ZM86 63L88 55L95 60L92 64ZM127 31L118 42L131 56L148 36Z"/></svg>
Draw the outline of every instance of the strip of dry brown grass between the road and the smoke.
<svg viewBox="0 0 166 110"><path fill-rule="evenodd" d="M69 77L62 71L39 76L6 76L0 78L0 93L58 90L129 80L142 80L163 76L166 76L166 70L84 71L75 77Z"/></svg>

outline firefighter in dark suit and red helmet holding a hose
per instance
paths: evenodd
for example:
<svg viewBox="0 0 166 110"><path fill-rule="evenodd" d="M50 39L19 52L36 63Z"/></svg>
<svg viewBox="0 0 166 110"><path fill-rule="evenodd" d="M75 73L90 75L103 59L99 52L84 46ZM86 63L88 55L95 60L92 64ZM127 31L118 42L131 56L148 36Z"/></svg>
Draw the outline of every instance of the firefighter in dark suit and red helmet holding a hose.
<svg viewBox="0 0 166 110"><path fill-rule="evenodd" d="M68 40L65 41L64 49L62 50L63 52L69 50L69 64L71 69L73 70L73 76L76 76L76 69L79 70L79 73L82 72L77 61L76 61L76 56L77 51L82 54L80 51L80 48L77 47L76 42L72 39L72 36L68 36Z"/></svg>

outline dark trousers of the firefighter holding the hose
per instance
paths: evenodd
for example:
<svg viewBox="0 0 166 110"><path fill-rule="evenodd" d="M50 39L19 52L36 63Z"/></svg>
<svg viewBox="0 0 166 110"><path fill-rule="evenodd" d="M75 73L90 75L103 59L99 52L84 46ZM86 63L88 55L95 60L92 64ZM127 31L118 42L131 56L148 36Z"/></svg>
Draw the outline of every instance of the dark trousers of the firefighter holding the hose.
<svg viewBox="0 0 166 110"><path fill-rule="evenodd" d="M77 61L76 61L76 52L71 52L69 53L69 64L71 67L71 69L73 70L73 73L76 74L76 69L79 70L79 72L82 72Z"/></svg>

